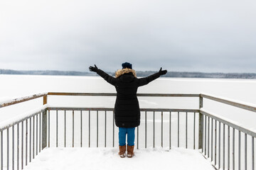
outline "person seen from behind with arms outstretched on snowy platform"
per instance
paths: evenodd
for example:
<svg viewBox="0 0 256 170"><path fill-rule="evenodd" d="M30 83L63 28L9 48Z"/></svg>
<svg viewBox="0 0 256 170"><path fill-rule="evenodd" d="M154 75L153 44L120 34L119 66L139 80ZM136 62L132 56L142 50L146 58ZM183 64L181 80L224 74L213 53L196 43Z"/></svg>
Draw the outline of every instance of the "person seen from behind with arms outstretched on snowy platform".
<svg viewBox="0 0 256 170"><path fill-rule="evenodd" d="M127 135L127 157L134 156L135 128L140 123L139 101L137 89L139 86L149 84L150 81L166 74L166 70L152 74L149 77L138 79L132 64L124 62L122 69L117 70L115 78L98 69L97 66L89 67L91 72L96 72L117 90L117 99L114 104L114 120L119 127L119 156L125 157Z"/></svg>

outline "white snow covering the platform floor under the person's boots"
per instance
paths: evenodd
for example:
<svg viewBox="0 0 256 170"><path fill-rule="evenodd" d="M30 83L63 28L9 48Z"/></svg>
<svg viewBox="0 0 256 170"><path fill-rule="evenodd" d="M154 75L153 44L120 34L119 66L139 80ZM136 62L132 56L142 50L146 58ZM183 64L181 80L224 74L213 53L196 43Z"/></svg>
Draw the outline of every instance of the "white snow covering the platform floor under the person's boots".
<svg viewBox="0 0 256 170"><path fill-rule="evenodd" d="M149 148L134 149L134 152L133 158L120 158L117 148L46 148L24 169L213 170L210 162L197 150Z"/></svg>

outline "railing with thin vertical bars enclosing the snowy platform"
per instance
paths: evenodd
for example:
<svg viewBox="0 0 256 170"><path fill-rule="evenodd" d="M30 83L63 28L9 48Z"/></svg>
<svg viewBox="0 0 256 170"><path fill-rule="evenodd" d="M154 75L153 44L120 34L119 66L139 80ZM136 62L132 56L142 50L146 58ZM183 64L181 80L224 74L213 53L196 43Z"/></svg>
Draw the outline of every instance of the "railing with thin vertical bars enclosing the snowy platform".
<svg viewBox="0 0 256 170"><path fill-rule="evenodd" d="M43 98L43 106L35 113L26 115L24 118L19 118L18 120L13 120L5 125L0 125L1 170L9 169L9 166L13 169L23 169L23 167L27 165L28 162L31 162L31 159L45 147L93 147L92 145L95 147L116 146L115 143L117 142L115 139L117 137L115 138L115 135L117 134L115 134L116 128L114 126L113 108L51 107L48 105L48 96L116 96L116 94L49 92L24 98L16 98L12 101L0 103L0 108L3 108L12 106L16 103L31 101L35 98ZM145 148L149 146L166 147L168 145L169 149L171 149L171 147L181 147L182 144L186 148L199 149L204 157L210 159L215 169L241 169L241 149L243 149L242 152L244 152L244 158L242 159L242 162L244 168L242 169L255 169L254 146L256 133L252 130L247 130L240 125L235 125L235 123L231 123L213 113L209 113L203 108L203 100L204 98L207 98L211 101L218 101L252 112L256 112L255 106L249 106L237 101L206 94L137 94L137 96L186 97L196 98L196 100L198 100L198 109L142 108L141 114L144 116L144 123L137 128L137 149L139 149L139 146L141 145ZM70 115L70 132L67 130L67 114ZM99 114L103 115L103 118L99 118ZM96 115L95 120L91 120L92 115ZM151 115L151 118L149 118L149 115ZM161 118L159 121L161 128L157 130L156 115ZM185 120L181 120L181 115L184 115L183 117L185 117ZM104 142L100 141L99 136L99 120L101 119L103 122L102 124L104 124L100 125L104 127L104 132L102 132ZM112 127L111 130L109 130L110 128L107 128L110 124ZM184 132L181 131L182 125L185 126L183 127L185 128ZM85 127L87 129L86 132ZM149 130L149 128L152 130ZM95 129L95 133L92 133L92 129ZM193 130L192 132L188 132L188 129ZM230 132L230 129L232 133ZM11 132L9 132L10 130ZM61 134L60 131L62 131ZM79 137L75 137L75 135L78 136L75 132L79 132ZM236 132L238 133L237 137L235 136ZM84 135L84 133L87 135ZM242 148L241 133L245 136L243 141L244 147ZM10 134L12 137L10 137ZM68 135L70 135L70 139L72 140L67 139ZM92 136L95 138L92 139ZM144 138L143 140L141 136ZM251 137L251 145L249 147L247 146L247 136ZM110 141L107 140L110 137L112 138L112 142L107 142ZM4 141L4 139L6 139L6 141ZM160 142L156 142L156 140ZM228 142L226 140L228 140ZM188 144L191 147L188 147ZM12 149L9 149L10 146ZM232 147L232 150L230 147ZM235 152L235 148L237 147L238 153ZM248 166L249 164L247 161L248 148L251 149L250 167ZM11 154L10 150L12 152ZM235 157L237 154L238 157ZM11 162L9 162L10 155ZM230 160L232 160L232 163L230 163Z"/></svg>

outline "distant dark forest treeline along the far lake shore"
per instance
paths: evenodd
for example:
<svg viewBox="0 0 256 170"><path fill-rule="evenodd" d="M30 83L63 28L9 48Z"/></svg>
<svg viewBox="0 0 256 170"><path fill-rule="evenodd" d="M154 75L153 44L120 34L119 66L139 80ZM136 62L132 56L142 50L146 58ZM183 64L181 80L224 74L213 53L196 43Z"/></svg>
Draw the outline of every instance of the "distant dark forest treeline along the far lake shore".
<svg viewBox="0 0 256 170"><path fill-rule="evenodd" d="M114 72L107 72L114 76ZM156 72L137 72L137 77L146 77ZM12 69L0 69L0 74L30 74L30 75L63 75L63 76L95 76L93 72L68 72L56 70L31 70L18 71ZM186 78L214 78L214 79L256 79L255 73L205 73L205 72L167 72L164 77L186 77Z"/></svg>

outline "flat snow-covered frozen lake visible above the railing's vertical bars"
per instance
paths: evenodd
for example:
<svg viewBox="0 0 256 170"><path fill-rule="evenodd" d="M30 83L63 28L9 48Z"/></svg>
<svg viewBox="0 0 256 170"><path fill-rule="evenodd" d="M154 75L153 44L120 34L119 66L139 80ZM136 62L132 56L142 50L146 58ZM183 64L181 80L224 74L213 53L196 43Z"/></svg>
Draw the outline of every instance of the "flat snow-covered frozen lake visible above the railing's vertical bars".
<svg viewBox="0 0 256 170"><path fill-rule="evenodd" d="M42 92L97 92L115 93L114 86L100 77L65 77L0 75L0 101L30 96ZM248 79L176 79L159 78L138 89L138 93L152 94L200 94L206 93L236 101L255 104L256 80ZM55 97L50 96L48 103L58 106L110 107L114 106L114 97ZM239 108L226 106L214 101L203 101L203 108L225 118L232 119L247 128L256 129L256 114ZM42 98L33 102L16 104L0 109L0 122L15 115L38 108ZM139 98L141 108L198 108L198 98Z"/></svg>

